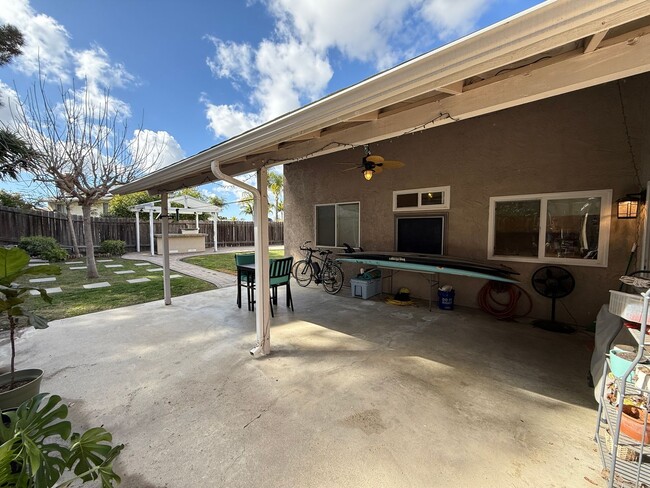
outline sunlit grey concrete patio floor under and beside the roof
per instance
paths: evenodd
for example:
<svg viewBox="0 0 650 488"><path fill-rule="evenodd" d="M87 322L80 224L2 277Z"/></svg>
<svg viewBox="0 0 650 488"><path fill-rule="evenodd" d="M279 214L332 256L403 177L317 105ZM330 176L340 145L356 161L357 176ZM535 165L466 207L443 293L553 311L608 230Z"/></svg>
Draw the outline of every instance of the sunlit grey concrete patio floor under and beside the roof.
<svg viewBox="0 0 650 488"><path fill-rule="evenodd" d="M605 485L589 335L292 291L259 360L229 287L52 322L18 366L126 444L125 487Z"/></svg>

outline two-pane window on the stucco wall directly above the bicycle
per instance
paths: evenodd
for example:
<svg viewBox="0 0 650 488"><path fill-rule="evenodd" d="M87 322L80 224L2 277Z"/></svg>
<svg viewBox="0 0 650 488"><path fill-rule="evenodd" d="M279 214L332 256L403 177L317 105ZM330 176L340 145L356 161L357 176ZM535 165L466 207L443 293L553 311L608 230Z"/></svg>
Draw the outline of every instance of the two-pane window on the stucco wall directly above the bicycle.
<svg viewBox="0 0 650 488"><path fill-rule="evenodd" d="M359 202L316 205L316 245L359 247Z"/></svg>

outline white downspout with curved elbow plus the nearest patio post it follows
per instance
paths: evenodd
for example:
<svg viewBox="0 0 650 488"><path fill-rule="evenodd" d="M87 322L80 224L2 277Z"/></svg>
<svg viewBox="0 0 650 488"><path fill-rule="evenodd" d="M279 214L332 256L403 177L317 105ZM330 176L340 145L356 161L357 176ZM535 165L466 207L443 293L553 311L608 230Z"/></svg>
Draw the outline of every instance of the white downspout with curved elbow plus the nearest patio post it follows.
<svg viewBox="0 0 650 488"><path fill-rule="evenodd" d="M257 307L255 308L255 329L257 345L251 349L253 357L271 353L271 304L269 297L269 201L266 193L267 170L262 166L257 170L257 188L239 181L221 171L218 161L210 165L214 175L253 195L253 221L255 225L255 289L257 290Z"/></svg>

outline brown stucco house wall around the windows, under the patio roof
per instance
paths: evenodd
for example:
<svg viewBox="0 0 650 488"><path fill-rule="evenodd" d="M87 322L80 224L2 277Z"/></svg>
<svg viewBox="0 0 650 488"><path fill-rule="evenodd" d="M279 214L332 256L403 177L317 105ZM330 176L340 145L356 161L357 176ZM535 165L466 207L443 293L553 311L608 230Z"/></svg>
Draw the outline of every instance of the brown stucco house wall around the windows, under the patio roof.
<svg viewBox="0 0 650 488"><path fill-rule="evenodd" d="M404 161L406 167L370 182L360 171L343 173L344 166L337 164L360 161L361 148L287 165L287 253L299 256L298 245L314 239L314 204L345 201L360 202L362 247L393 250L393 190L450 185L446 254L485 261L491 196L612 189L615 201L638 191L631 146L642 181L650 179L649 93L646 74L375 143L373 153ZM595 319L608 290L618 288L638 223L612 219L607 268L566 265L576 288L558 301L558 320L587 324ZM531 315L549 318L550 299L529 285L541 264L503 263L521 273L522 287L534 302ZM349 278L356 268L346 271ZM456 289L458 304L477 306L485 281L441 278ZM395 286L428 296L426 281L413 273L402 273Z"/></svg>

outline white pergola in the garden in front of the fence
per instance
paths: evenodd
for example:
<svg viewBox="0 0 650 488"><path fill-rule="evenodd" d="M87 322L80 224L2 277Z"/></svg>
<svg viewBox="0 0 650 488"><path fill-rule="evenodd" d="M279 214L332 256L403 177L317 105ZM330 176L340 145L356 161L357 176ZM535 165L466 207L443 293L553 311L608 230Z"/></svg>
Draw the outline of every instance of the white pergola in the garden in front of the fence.
<svg viewBox="0 0 650 488"><path fill-rule="evenodd" d="M136 239L136 249L140 252L140 212L149 213L149 242L151 242L151 255L155 254L154 249L154 225L153 219L154 214L160 214L161 218L166 218L172 215L194 215L196 220L196 228L199 227L199 215L204 213L209 213L212 215L212 225L214 227L214 250L217 250L217 214L221 208L216 205L211 205L194 198L188 195L179 195L177 197L172 197L167 199L167 213L163 215L163 205L161 204L162 200L156 200L153 202L140 203L129 207L129 210L135 212L135 239ZM179 206L180 205L180 206ZM164 220L163 220L164 222Z"/></svg>

